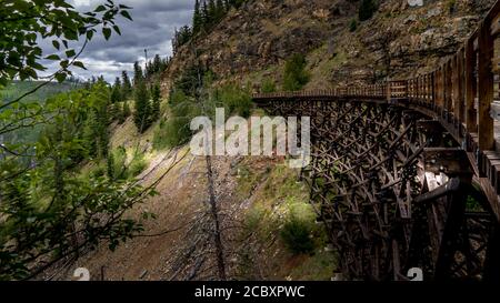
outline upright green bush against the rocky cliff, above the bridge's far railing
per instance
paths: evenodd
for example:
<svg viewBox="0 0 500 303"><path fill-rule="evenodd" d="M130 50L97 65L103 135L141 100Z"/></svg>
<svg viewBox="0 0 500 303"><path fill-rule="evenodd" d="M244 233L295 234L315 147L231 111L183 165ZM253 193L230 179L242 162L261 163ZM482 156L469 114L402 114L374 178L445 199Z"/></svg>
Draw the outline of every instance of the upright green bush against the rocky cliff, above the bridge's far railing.
<svg viewBox="0 0 500 303"><path fill-rule="evenodd" d="M301 90L309 82L306 72L306 57L297 53L291 55L284 64L283 89L286 91Z"/></svg>

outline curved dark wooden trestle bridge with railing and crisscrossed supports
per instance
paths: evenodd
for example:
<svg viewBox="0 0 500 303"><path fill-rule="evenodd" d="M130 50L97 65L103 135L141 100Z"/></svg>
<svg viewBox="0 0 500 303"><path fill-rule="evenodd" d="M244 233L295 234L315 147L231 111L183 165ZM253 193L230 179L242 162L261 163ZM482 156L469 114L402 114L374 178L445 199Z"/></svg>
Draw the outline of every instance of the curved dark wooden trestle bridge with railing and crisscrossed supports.
<svg viewBox="0 0 500 303"><path fill-rule="evenodd" d="M499 36L500 1L431 73L253 97L311 117L304 175L347 279L500 281Z"/></svg>

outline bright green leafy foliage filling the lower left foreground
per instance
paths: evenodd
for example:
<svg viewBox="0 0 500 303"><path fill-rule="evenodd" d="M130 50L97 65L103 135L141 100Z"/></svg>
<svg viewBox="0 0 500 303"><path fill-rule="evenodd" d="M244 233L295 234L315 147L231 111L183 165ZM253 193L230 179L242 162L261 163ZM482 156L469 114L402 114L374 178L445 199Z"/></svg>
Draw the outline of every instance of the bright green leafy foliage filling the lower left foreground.
<svg viewBox="0 0 500 303"><path fill-rule="evenodd" d="M77 173L88 150L83 125L89 117L94 122L106 120L100 111L107 102L109 89L99 82L90 91L50 98L44 111L51 119L39 140L14 149L28 150L27 155L0 158L0 280L26 279L43 270L41 260L57 261L101 240L114 249L142 230L139 222L120 214L153 191L106 178L106 166L98 165L88 176ZM16 115L2 119L8 122ZM101 125L93 127L98 131ZM93 142L100 149L100 141ZM109 168L111 172L117 170Z"/></svg>

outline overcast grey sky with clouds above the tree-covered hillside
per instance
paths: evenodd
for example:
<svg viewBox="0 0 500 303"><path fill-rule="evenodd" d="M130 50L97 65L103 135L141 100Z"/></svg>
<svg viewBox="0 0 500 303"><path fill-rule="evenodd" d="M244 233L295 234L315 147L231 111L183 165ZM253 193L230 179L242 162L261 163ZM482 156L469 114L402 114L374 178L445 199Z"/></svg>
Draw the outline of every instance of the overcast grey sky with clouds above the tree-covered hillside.
<svg viewBox="0 0 500 303"><path fill-rule="evenodd" d="M104 0L70 0L79 11L86 12L96 8ZM109 41L102 34L96 36L84 52L80 55L88 70L72 68L80 78L88 79L92 74L104 75L106 80L113 82L122 70L131 72L133 62L144 62L144 49L148 58L156 53L162 58L171 55L171 39L174 28L191 23L194 0L116 0L116 3L127 4L133 9L130 11L133 21L121 16L118 26L121 36L113 32ZM53 53L51 40L42 41L44 55ZM49 64L49 72L57 70L53 62Z"/></svg>

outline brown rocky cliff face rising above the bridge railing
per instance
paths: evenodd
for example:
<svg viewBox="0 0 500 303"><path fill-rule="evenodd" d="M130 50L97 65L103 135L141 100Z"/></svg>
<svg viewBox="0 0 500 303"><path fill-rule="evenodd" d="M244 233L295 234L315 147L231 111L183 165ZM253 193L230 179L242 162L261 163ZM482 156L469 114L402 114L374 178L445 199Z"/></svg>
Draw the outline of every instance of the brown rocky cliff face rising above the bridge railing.
<svg viewBox="0 0 500 303"><path fill-rule="evenodd" d="M279 80L283 60L296 52L308 57L311 89L417 73L453 53L494 0L381 0L373 18L351 31L360 2L249 0L180 49L164 89L194 58L219 78L251 81L256 89L262 77Z"/></svg>

